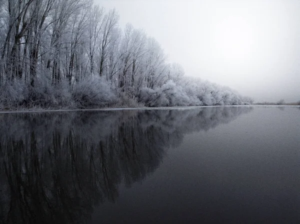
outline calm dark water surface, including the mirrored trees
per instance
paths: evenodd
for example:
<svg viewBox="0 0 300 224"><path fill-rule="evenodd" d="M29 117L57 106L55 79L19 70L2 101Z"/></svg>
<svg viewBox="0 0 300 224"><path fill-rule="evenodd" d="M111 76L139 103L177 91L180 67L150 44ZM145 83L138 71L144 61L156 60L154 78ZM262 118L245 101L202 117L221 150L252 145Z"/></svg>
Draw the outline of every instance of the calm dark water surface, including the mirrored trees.
<svg viewBox="0 0 300 224"><path fill-rule="evenodd" d="M2 223L299 223L299 107L0 114Z"/></svg>

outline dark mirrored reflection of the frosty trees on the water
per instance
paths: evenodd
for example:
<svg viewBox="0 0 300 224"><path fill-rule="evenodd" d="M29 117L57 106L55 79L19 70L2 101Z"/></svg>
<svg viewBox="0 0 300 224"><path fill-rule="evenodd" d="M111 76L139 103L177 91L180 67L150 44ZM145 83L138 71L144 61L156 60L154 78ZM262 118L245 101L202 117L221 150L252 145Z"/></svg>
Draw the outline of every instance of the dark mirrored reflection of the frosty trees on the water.
<svg viewBox="0 0 300 224"><path fill-rule="evenodd" d="M0 115L0 219L83 222L143 179L183 134L226 123L251 107Z"/></svg>

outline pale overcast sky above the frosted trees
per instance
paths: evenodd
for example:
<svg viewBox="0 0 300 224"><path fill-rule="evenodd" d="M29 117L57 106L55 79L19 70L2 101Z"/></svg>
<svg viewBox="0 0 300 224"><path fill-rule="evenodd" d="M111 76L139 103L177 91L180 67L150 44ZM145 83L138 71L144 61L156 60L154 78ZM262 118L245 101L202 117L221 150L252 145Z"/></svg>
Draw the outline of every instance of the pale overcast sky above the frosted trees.
<svg viewBox="0 0 300 224"><path fill-rule="evenodd" d="M255 101L300 100L300 0L94 0L161 44L189 76Z"/></svg>

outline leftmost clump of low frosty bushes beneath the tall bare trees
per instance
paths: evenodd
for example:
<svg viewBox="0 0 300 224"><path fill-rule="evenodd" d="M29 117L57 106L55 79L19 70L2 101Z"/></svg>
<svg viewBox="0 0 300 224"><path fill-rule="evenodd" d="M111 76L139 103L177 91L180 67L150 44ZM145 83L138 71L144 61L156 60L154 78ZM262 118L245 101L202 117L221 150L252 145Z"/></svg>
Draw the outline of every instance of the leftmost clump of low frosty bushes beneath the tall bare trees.
<svg viewBox="0 0 300 224"><path fill-rule="evenodd" d="M34 86L15 79L6 81L0 88L0 110L85 108L107 106L115 101L111 84L96 77L74 83L72 90L66 80L53 85L43 77L36 78Z"/></svg>

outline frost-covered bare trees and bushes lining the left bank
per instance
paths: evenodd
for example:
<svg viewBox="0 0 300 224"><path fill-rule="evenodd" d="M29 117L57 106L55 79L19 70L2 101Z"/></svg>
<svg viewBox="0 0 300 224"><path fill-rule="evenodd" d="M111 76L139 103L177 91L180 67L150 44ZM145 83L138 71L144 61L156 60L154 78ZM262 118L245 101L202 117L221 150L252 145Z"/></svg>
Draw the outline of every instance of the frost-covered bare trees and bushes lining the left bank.
<svg viewBox="0 0 300 224"><path fill-rule="evenodd" d="M249 104L92 0L0 1L0 109Z"/></svg>

